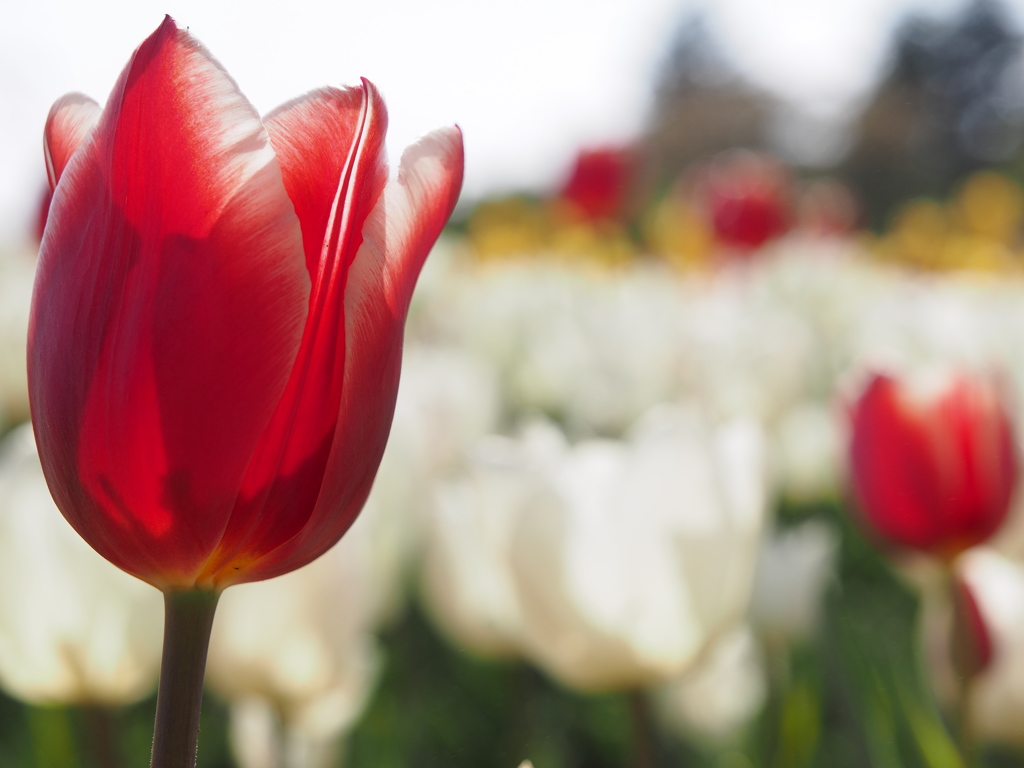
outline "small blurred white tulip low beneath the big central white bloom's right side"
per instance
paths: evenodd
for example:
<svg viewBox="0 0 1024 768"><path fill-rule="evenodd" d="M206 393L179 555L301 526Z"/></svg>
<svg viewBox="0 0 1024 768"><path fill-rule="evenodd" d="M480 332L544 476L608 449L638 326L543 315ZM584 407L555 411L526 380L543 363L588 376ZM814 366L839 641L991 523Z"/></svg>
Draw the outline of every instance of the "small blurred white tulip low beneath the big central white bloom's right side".
<svg viewBox="0 0 1024 768"><path fill-rule="evenodd" d="M684 737L726 740L764 706L768 685L749 627L714 642L697 665L658 690L660 719Z"/></svg>

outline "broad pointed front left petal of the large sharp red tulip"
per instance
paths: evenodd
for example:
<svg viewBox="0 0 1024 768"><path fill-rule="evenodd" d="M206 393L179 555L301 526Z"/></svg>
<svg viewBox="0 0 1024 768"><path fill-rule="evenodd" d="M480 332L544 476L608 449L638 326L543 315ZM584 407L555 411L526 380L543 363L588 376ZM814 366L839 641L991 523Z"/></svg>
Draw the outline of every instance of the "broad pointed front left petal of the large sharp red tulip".
<svg viewBox="0 0 1024 768"><path fill-rule="evenodd" d="M266 132L168 17L53 197L30 391L57 506L108 559L188 587L227 523L308 306Z"/></svg>

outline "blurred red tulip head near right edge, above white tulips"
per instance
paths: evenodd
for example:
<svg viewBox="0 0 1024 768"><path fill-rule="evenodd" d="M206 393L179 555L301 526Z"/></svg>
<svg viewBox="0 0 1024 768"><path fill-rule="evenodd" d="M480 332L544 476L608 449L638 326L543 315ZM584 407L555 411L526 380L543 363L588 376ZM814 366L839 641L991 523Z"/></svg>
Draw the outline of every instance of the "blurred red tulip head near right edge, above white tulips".
<svg viewBox="0 0 1024 768"><path fill-rule="evenodd" d="M1006 519L1017 449L991 380L950 375L926 392L878 375L851 428L854 490L866 524L886 542L948 557Z"/></svg>

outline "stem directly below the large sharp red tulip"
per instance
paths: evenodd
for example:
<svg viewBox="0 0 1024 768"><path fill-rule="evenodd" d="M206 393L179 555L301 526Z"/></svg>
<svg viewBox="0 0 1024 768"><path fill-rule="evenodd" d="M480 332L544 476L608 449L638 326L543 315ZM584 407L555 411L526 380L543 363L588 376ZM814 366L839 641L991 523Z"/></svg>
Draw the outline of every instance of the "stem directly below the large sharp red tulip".
<svg viewBox="0 0 1024 768"><path fill-rule="evenodd" d="M195 768L206 653L219 592L164 593L164 653L151 768Z"/></svg>

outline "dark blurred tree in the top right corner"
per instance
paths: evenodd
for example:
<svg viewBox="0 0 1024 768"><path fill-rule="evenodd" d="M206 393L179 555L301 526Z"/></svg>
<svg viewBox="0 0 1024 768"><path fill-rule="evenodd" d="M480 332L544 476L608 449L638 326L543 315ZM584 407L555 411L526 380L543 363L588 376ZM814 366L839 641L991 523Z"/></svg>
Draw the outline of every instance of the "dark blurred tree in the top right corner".
<svg viewBox="0 0 1024 768"><path fill-rule="evenodd" d="M839 169L877 227L897 202L944 196L968 173L1011 160L1024 138L1021 35L996 0L973 0L945 20L908 18L892 61Z"/></svg>

